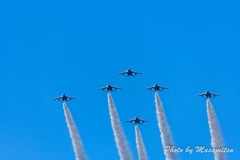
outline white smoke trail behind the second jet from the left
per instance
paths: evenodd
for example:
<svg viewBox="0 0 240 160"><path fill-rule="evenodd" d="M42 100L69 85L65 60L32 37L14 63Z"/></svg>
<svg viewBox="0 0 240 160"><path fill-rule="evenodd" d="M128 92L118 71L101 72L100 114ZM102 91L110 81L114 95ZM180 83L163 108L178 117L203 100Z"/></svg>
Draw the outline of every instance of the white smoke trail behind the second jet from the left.
<svg viewBox="0 0 240 160"><path fill-rule="evenodd" d="M111 118L111 124L113 128L113 133L115 137L115 142L117 144L118 153L121 160L132 160L132 154L130 149L128 148L128 142L125 138L119 116L117 113L117 109L114 105L112 96L108 93L108 106Z"/></svg>

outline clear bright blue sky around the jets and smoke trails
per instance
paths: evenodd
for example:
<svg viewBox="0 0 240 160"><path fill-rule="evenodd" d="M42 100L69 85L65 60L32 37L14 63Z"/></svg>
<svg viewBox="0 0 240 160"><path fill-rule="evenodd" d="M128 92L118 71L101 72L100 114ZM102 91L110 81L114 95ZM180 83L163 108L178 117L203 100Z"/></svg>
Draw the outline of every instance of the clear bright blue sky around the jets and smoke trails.
<svg viewBox="0 0 240 160"><path fill-rule="evenodd" d="M0 2L0 159L73 160L62 104L66 93L91 160L117 160L110 125L107 83L113 93L130 148L137 159L134 126L138 115L150 160L164 159L155 114L158 82L176 146L206 145L210 133L207 89L226 146L240 157L240 3L203 1L18 1ZM117 73L142 72L135 78ZM179 154L182 160L213 160L213 154Z"/></svg>

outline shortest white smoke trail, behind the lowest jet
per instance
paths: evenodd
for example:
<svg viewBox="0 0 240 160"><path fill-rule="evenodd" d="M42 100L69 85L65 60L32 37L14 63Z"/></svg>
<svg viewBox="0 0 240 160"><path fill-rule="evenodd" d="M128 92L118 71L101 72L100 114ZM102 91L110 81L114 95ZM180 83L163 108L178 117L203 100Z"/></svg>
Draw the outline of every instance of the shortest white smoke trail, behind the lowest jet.
<svg viewBox="0 0 240 160"><path fill-rule="evenodd" d="M135 126L135 134L136 134L136 143L137 143L137 150L138 150L138 160L148 160L147 152L144 147L142 136L137 125Z"/></svg>

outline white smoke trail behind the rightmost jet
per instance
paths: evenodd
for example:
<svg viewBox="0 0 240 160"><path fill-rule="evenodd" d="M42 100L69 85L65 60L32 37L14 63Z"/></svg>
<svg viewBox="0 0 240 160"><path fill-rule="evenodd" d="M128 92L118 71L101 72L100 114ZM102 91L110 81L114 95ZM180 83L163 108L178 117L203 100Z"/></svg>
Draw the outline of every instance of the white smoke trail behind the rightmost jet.
<svg viewBox="0 0 240 160"><path fill-rule="evenodd" d="M207 100L207 115L208 124L211 134L211 145L213 149L222 149L224 147L223 137L215 110L210 102ZM224 152L214 152L215 160L226 160Z"/></svg>

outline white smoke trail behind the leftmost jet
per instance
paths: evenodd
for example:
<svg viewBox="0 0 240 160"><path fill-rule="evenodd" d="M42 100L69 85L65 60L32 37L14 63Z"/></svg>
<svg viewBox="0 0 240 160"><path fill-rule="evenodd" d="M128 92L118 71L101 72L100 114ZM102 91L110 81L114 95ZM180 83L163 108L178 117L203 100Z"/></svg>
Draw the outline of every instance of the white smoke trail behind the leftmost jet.
<svg viewBox="0 0 240 160"><path fill-rule="evenodd" d="M67 121L67 126L69 129L70 137L72 139L76 160L87 160L87 156L85 155L83 144L77 130L77 126L75 125L72 115L65 102L63 103L63 109L64 109L66 121Z"/></svg>

